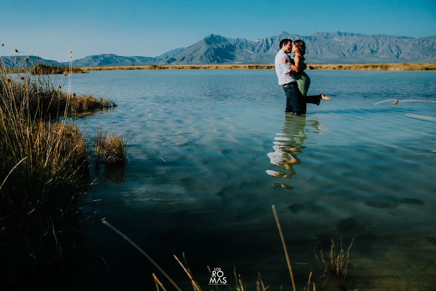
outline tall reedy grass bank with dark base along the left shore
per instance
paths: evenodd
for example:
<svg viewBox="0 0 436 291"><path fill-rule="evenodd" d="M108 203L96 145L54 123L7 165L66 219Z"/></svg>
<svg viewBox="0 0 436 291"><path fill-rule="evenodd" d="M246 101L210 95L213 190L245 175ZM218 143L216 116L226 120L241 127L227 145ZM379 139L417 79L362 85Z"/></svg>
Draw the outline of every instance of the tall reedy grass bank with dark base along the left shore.
<svg viewBox="0 0 436 291"><path fill-rule="evenodd" d="M0 70L0 289L75 253L86 143L76 126L54 117L95 106L109 101Z"/></svg>

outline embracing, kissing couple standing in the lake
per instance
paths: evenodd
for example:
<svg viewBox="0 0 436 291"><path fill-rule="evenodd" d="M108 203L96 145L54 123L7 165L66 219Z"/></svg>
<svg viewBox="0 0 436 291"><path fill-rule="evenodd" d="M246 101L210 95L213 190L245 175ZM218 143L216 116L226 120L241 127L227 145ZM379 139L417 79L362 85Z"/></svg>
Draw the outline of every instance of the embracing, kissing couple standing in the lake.
<svg viewBox="0 0 436 291"><path fill-rule="evenodd" d="M292 112L296 115L306 114L307 103L319 105L321 100L330 100L331 98L324 94L307 96L311 81L304 72L306 44L302 40L296 40L293 45L292 40L285 38L280 41L279 47L274 65L279 84L283 86L286 94L285 112ZM295 52L293 62L288 56L290 52Z"/></svg>

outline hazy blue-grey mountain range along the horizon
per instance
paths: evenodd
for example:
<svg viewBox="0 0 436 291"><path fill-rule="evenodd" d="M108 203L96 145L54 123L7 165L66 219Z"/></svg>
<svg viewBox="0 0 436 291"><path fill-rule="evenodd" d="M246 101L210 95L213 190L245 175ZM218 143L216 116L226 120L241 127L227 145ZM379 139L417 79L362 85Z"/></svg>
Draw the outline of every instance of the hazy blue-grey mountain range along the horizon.
<svg viewBox="0 0 436 291"><path fill-rule="evenodd" d="M395 35L367 35L351 32L314 32L309 36L282 32L277 36L247 40L210 34L186 48L173 49L157 57L100 54L72 61L73 66L107 65L198 65L198 64L272 64L283 38L302 39L307 46L306 63L435 63L436 37L413 38ZM3 57L7 67L16 63L32 66L69 65L30 56Z"/></svg>

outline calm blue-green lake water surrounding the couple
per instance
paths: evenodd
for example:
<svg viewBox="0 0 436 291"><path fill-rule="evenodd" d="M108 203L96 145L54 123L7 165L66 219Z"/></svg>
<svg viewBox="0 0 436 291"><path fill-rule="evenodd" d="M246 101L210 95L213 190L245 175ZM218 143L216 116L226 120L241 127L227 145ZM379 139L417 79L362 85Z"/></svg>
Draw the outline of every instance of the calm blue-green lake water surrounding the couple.
<svg viewBox="0 0 436 291"><path fill-rule="evenodd" d="M221 268L232 288L235 266L249 290L258 272L273 290L289 290L274 204L299 290L311 271L315 278L321 274L313 255L317 242L327 250L341 237L346 246L355 238L347 288L432 289L436 122L417 115L434 119L436 104L374 103L436 100L436 72L309 75L309 95L332 100L309 104L305 116L284 113L274 70L73 75L76 93L119 105L75 121L90 148L97 129L122 133L129 162L125 170L94 174L71 286L151 290L152 273L170 286L100 222L106 218L184 290L189 280L172 257L183 251L203 290L210 288L206 265ZM317 289L323 282L316 281Z"/></svg>

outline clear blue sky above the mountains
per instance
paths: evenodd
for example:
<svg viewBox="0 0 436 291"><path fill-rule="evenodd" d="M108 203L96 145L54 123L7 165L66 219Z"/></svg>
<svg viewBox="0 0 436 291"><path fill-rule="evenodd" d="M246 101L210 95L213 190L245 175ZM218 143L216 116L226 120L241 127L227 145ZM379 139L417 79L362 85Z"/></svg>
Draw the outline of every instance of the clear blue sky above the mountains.
<svg viewBox="0 0 436 291"><path fill-rule="evenodd" d="M283 31L435 36L436 0L0 0L3 56L156 56L210 33L254 40Z"/></svg>

